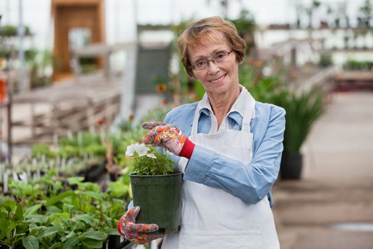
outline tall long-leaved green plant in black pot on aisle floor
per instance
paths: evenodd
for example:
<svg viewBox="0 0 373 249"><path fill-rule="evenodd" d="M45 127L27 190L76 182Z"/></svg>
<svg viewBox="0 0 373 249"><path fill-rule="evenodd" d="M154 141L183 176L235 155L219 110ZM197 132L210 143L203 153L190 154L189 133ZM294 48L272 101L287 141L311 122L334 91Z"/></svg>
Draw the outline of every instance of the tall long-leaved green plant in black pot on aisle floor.
<svg viewBox="0 0 373 249"><path fill-rule="evenodd" d="M274 96L274 104L286 110L281 179L300 179L303 162L301 146L323 112L323 92L312 88L296 94L283 89Z"/></svg>

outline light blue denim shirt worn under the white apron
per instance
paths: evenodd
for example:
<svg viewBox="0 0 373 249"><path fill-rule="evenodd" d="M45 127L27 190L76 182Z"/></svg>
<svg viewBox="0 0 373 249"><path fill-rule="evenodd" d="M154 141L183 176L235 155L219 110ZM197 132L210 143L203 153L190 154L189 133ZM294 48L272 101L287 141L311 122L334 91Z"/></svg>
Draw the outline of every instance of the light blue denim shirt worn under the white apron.
<svg viewBox="0 0 373 249"><path fill-rule="evenodd" d="M198 102L181 105L168 112L164 122L174 124L189 136ZM208 134L211 127L210 112L200 110L198 133ZM228 115L229 127L241 130L242 116L238 112ZM258 203L268 196L271 206L274 201L271 188L277 179L283 151L285 110L276 105L255 102L255 117L252 119L253 157L249 165L230 159L210 149L195 146L184 172L184 180L223 189L246 203ZM180 157L173 156L178 162Z"/></svg>

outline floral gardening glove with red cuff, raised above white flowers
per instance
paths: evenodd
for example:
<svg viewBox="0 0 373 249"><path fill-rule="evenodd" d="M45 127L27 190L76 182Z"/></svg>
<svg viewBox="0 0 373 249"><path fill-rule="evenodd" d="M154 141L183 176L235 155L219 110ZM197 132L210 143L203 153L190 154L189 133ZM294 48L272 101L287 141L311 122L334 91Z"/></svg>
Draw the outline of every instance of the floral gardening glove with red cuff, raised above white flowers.
<svg viewBox="0 0 373 249"><path fill-rule="evenodd" d="M145 122L142 127L150 129L143 138L144 144L163 147L176 156L188 159L192 156L195 144L184 136L175 125L163 122Z"/></svg>

